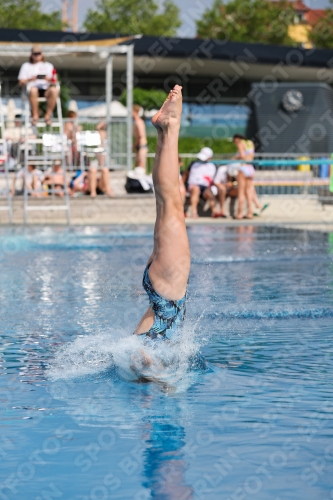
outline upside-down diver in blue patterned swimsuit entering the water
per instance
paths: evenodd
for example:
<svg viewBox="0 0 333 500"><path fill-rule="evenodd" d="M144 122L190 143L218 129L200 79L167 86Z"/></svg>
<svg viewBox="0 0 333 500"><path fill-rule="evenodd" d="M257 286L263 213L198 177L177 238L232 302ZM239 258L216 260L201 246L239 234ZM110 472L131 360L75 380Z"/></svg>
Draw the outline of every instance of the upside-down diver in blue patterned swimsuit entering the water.
<svg viewBox="0 0 333 500"><path fill-rule="evenodd" d="M149 307L134 332L146 340L170 339L185 316L190 247L179 184L181 89L176 85L152 118L158 131L153 168L156 196L154 248L143 275Z"/></svg>

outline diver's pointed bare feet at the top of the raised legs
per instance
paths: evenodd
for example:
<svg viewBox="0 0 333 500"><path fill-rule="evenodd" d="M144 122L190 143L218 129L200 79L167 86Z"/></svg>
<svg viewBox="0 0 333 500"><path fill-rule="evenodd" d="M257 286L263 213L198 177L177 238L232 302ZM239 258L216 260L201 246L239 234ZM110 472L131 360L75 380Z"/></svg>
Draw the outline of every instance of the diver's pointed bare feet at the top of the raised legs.
<svg viewBox="0 0 333 500"><path fill-rule="evenodd" d="M175 85L161 109L153 116L151 122L163 132L170 128L179 128L182 115L182 87Z"/></svg>

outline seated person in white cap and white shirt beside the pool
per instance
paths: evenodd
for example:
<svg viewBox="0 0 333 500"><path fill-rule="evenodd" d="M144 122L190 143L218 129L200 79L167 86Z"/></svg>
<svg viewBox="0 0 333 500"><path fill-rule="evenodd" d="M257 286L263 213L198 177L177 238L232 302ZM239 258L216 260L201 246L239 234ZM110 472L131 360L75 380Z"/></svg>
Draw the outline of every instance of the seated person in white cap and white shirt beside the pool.
<svg viewBox="0 0 333 500"><path fill-rule="evenodd" d="M216 174L216 166L210 162L213 158L211 148L203 148L197 154L197 160L192 162L183 174L183 181L188 185L191 202L191 216L198 218L198 204L200 198L209 202L212 217L216 217L216 199L210 189Z"/></svg>

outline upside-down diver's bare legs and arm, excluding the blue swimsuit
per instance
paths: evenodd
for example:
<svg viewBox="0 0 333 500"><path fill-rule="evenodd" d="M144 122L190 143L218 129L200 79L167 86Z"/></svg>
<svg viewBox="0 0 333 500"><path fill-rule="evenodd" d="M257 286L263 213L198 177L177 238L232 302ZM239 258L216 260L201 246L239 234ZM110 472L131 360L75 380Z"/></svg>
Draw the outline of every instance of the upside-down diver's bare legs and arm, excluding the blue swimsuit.
<svg viewBox="0 0 333 500"><path fill-rule="evenodd" d="M158 130L153 168L156 196L154 249L148 260L154 291L168 301L184 298L190 271L190 248L179 189L178 136L182 110L181 87L176 85L152 119ZM154 323L148 308L135 333L147 332Z"/></svg>

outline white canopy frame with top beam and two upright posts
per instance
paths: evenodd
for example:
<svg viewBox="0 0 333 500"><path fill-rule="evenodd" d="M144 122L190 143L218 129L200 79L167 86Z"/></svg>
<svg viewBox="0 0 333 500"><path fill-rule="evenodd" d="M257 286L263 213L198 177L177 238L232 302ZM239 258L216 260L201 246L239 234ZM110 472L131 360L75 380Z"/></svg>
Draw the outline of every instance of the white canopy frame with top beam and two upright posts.
<svg viewBox="0 0 333 500"><path fill-rule="evenodd" d="M136 38L136 37L133 37ZM117 55L126 56L126 91L127 91L127 148L126 148L126 167L132 168L132 106L133 106L133 72L134 72L134 45L91 45L80 43L59 43L59 44L40 44L43 52L48 56L61 57L65 54L99 54L101 62L106 59L105 64L105 100L106 100L106 124L107 124L107 166L110 166L110 136L112 127L111 102L112 102L112 82L113 82L113 58ZM29 57L32 43L8 43L0 47L1 53L11 56Z"/></svg>

